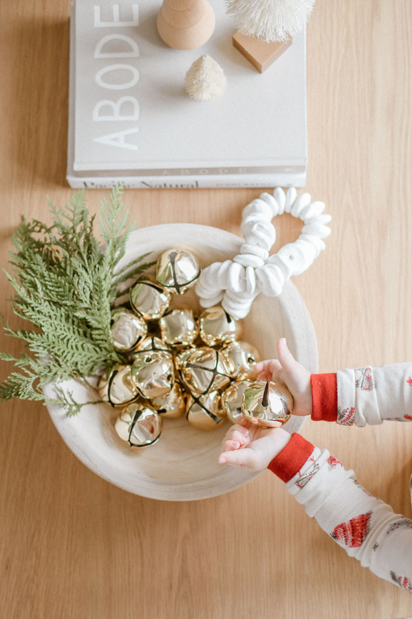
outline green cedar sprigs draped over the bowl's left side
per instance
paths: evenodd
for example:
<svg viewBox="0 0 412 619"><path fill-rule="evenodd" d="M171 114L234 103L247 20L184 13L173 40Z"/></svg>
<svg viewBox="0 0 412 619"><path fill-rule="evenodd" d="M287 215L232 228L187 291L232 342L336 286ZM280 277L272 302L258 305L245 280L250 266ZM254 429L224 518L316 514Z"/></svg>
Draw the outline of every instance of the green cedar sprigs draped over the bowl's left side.
<svg viewBox="0 0 412 619"><path fill-rule="evenodd" d="M14 363L14 371L0 383L1 401L58 403L73 415L84 403L64 392L60 381L87 382L87 376L101 368L125 361L113 347L111 306L119 286L137 278L153 262L143 262L148 256L144 254L117 269L133 229L122 195L122 187L116 185L109 200L100 201L98 223L104 250L94 236L95 216L89 218L84 191L74 194L62 209L49 201L52 225L23 218L14 232L10 252L14 275L6 271L16 292L12 309L34 329L13 330L3 320L5 333L23 340L29 352L20 357L0 352L1 360ZM43 393L51 382L58 393L53 401Z"/></svg>

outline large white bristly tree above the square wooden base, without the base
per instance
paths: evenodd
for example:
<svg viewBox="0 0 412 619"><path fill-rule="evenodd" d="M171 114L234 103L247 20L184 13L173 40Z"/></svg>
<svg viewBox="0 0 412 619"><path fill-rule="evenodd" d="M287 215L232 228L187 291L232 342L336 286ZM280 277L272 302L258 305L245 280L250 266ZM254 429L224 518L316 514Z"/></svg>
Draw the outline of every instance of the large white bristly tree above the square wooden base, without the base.
<svg viewBox="0 0 412 619"><path fill-rule="evenodd" d="M287 41L310 19L314 0L225 0L236 29L264 41Z"/></svg>

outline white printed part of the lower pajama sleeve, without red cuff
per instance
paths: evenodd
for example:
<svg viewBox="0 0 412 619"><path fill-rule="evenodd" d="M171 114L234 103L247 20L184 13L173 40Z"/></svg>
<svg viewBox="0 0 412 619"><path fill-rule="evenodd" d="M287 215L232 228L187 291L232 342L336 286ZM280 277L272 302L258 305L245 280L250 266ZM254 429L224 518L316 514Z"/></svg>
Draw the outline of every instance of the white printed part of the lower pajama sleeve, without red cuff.
<svg viewBox="0 0 412 619"><path fill-rule="evenodd" d="M286 487L347 554L412 593L412 520L365 491L354 471L314 447Z"/></svg>

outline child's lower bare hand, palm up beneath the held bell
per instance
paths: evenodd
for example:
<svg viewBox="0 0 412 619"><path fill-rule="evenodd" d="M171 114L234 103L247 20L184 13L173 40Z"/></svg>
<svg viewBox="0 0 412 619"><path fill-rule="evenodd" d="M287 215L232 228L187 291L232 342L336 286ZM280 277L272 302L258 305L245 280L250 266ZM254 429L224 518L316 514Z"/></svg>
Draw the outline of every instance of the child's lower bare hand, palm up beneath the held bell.
<svg viewBox="0 0 412 619"><path fill-rule="evenodd" d="M290 434L282 428L260 428L247 420L233 425L222 441L220 464L233 464L239 469L264 471L288 444Z"/></svg>

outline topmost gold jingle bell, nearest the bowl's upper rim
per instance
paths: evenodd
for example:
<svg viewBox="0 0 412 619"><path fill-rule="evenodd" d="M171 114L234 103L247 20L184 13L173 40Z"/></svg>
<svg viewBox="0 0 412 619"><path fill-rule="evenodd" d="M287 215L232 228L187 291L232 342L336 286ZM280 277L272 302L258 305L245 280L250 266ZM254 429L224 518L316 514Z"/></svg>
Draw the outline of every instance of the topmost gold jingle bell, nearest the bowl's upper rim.
<svg viewBox="0 0 412 619"><path fill-rule="evenodd" d="M194 286L201 267L192 254L183 249L163 251L156 264L156 279L165 289L182 295Z"/></svg>

